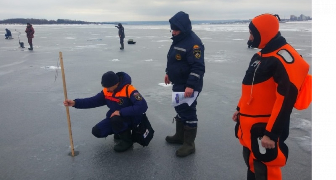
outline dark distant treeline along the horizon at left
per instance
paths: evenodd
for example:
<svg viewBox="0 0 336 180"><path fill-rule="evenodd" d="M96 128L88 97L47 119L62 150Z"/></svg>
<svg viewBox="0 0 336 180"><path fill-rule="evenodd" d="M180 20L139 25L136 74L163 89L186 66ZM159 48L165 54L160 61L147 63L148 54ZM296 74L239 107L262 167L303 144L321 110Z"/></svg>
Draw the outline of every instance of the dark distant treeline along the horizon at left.
<svg viewBox="0 0 336 180"><path fill-rule="evenodd" d="M96 22L86 22L86 21L76 21L76 20L46 20L46 19L7 19L0 21L0 24L118 24L118 23L96 23Z"/></svg>

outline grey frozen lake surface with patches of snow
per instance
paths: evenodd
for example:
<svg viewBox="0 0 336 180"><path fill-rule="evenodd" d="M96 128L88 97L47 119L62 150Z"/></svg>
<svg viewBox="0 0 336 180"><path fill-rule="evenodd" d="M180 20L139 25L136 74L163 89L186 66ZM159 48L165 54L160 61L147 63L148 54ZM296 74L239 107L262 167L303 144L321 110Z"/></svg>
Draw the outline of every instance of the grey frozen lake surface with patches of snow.
<svg viewBox="0 0 336 180"><path fill-rule="evenodd" d="M246 179L242 146L234 135L241 82L258 49L247 48L248 24L193 25L205 45L206 72L198 98L196 153L176 157L179 145L166 143L176 115L171 86L163 84L171 45L169 26L125 25L120 50L114 25L33 25L34 50L28 50L25 25L0 25L14 39L0 38L0 179ZM25 48L19 48L20 41ZM311 23L282 23L280 32L311 65ZM101 40L98 40L101 39ZM127 44L133 39L136 44ZM63 54L68 98L91 97L101 91L107 71L124 71L146 99L155 130L148 147L134 144L113 150L113 136L95 138L92 127L104 118L106 106L70 108L75 151L71 157L59 51ZM58 70L58 75L56 74ZM311 67L310 67L311 73ZM57 76L55 80L55 76ZM293 110L287 165L283 179L311 179L311 105Z"/></svg>

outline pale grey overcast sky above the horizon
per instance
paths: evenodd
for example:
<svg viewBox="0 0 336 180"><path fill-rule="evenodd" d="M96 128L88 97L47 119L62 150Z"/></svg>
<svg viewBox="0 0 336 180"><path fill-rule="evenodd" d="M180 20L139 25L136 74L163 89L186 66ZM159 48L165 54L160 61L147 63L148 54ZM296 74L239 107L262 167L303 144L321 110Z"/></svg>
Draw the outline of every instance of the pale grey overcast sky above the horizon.
<svg viewBox="0 0 336 180"><path fill-rule="evenodd" d="M309 0L0 0L0 20L70 19L88 22L168 21L178 11L191 20L252 19L271 12L311 16Z"/></svg>

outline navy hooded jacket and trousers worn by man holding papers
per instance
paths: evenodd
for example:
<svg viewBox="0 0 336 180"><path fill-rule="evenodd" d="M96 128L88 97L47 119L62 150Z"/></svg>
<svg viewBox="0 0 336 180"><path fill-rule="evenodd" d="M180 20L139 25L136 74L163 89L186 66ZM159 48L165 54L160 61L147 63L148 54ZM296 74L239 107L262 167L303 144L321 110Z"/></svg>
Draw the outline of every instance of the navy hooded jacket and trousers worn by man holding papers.
<svg viewBox="0 0 336 180"><path fill-rule="evenodd" d="M173 43L167 55L166 74L173 84L173 92L184 92L190 87L201 93L205 73L204 45L192 31L188 14L178 12L169 22L181 30L179 35L171 38ZM175 106L177 120L184 122L184 126L197 127L196 105L197 98L191 106L186 103Z"/></svg>

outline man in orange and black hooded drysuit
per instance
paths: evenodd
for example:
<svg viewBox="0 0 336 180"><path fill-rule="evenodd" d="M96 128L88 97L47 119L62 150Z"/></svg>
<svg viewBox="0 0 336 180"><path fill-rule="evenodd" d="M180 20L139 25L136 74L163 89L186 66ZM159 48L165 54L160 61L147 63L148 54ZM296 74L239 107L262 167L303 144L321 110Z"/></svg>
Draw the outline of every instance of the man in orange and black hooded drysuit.
<svg viewBox="0 0 336 180"><path fill-rule="evenodd" d="M248 180L281 180L289 119L309 65L279 32L279 16L261 14L249 24L252 47L261 49L248 66L232 119L243 145Z"/></svg>

